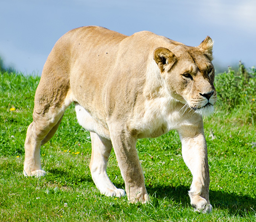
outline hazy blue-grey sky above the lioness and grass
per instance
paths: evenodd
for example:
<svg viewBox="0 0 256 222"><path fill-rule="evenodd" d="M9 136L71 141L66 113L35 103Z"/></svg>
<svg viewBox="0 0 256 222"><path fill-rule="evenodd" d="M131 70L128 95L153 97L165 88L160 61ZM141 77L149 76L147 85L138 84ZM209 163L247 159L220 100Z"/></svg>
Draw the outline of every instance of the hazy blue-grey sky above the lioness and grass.
<svg viewBox="0 0 256 222"><path fill-rule="evenodd" d="M0 57L6 68L41 75L55 42L87 25L132 35L148 30L198 46L214 40L214 65L256 65L255 0L0 0Z"/></svg>

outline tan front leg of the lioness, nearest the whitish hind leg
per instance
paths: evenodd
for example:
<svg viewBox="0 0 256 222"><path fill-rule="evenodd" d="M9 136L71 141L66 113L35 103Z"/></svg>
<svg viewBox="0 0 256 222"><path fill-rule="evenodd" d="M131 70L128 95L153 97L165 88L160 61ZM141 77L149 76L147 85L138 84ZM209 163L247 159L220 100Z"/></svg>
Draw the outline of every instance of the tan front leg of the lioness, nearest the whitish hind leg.
<svg viewBox="0 0 256 222"><path fill-rule="evenodd" d="M109 125L114 152L125 181L125 192L130 202L145 203L148 193L144 184L144 175L137 155L137 139L120 124Z"/></svg>

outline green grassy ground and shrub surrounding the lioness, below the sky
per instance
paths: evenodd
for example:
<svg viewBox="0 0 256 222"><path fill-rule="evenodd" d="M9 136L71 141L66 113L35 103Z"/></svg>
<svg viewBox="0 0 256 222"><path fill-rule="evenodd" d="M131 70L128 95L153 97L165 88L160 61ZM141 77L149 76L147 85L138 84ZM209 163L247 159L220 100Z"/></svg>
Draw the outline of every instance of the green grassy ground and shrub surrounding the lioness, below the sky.
<svg viewBox="0 0 256 222"><path fill-rule="evenodd" d="M24 140L32 122L40 77L0 72L0 222L256 221L256 70L229 69L216 77L219 102L204 118L210 166L211 214L194 212L192 176L175 131L137 142L151 203L105 197L89 172L90 137L74 106L55 136L42 146L43 178L23 175ZM124 188L114 153L108 175Z"/></svg>

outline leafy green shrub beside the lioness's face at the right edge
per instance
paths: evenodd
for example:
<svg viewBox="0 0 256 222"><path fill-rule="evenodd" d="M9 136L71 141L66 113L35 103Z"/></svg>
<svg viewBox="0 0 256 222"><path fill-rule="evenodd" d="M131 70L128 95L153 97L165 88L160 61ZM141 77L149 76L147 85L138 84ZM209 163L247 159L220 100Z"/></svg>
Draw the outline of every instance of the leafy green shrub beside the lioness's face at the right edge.
<svg viewBox="0 0 256 222"><path fill-rule="evenodd" d="M246 123L256 121L256 68L246 70L244 64L239 63L237 72L228 68L227 72L220 73L215 78L215 88L218 102L222 109L239 112L249 112L245 117ZM239 110L239 111L238 111Z"/></svg>

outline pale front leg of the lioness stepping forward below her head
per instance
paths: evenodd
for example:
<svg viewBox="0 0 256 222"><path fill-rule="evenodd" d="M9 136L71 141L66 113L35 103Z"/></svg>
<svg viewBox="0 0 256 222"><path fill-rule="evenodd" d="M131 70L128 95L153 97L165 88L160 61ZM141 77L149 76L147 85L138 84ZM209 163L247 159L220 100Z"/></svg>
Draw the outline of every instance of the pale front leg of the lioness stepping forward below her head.
<svg viewBox="0 0 256 222"><path fill-rule="evenodd" d="M193 175L189 191L191 204L196 211L209 213L212 211L212 205L209 202L210 178L204 134L200 133L195 137L185 137L181 133L179 135L183 159Z"/></svg>

